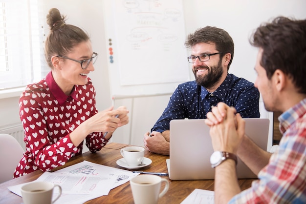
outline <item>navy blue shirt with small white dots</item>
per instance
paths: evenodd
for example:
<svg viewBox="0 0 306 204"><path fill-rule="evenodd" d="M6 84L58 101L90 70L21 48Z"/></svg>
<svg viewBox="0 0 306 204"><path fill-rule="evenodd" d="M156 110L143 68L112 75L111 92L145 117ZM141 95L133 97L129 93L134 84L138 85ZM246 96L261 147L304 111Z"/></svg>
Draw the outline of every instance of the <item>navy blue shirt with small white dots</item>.
<svg viewBox="0 0 306 204"><path fill-rule="evenodd" d="M258 89L252 82L227 74L224 82L213 93L197 85L196 81L179 84L152 131L169 130L169 123L173 119L205 119L212 106L218 102L234 106L242 118L260 117Z"/></svg>

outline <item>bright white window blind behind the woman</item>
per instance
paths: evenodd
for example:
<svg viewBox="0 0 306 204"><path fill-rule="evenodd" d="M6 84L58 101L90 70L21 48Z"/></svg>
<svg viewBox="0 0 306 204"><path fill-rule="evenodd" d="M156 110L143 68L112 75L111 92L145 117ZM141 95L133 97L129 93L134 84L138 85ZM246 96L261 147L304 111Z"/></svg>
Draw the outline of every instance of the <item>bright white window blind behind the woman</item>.
<svg viewBox="0 0 306 204"><path fill-rule="evenodd" d="M0 0L0 89L44 77L44 29L38 0Z"/></svg>

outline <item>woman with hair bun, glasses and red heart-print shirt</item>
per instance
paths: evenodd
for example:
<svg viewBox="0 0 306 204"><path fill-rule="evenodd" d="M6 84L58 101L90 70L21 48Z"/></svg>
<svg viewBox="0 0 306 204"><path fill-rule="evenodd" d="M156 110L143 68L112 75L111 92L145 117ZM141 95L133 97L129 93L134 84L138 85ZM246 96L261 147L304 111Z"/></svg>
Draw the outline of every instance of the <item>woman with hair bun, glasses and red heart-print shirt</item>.
<svg viewBox="0 0 306 204"><path fill-rule="evenodd" d="M98 112L95 89L88 74L98 54L88 35L66 24L56 8L49 10L50 33L45 60L51 71L40 82L27 85L19 106L26 151L14 178L37 169L50 171L82 153L83 141L91 152L99 151L112 133L129 122L129 111L113 106Z"/></svg>

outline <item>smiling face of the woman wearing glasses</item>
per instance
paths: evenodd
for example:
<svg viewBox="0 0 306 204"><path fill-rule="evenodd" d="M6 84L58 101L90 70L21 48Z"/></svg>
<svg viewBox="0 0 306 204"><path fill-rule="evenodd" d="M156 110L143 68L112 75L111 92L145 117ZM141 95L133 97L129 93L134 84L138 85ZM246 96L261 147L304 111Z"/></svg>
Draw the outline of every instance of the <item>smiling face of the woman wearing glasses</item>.
<svg viewBox="0 0 306 204"><path fill-rule="evenodd" d="M66 57L82 61L90 59L92 56L92 46L90 41L77 44ZM92 62L86 69L82 69L81 64L60 57L53 57L55 73L52 72L55 82L60 88L69 95L74 85L85 85L88 82L87 75L90 71L94 71Z"/></svg>

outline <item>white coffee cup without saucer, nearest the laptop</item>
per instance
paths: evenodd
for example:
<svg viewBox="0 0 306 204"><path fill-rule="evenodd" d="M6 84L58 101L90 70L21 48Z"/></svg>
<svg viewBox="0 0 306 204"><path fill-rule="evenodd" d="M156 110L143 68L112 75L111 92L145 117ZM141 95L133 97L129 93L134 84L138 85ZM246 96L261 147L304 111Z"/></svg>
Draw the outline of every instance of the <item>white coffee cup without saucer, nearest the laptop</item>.
<svg viewBox="0 0 306 204"><path fill-rule="evenodd" d="M160 193L160 186L165 187ZM158 199L166 194L169 189L169 182L160 176L142 174L131 179L131 190L135 204L157 204Z"/></svg>

